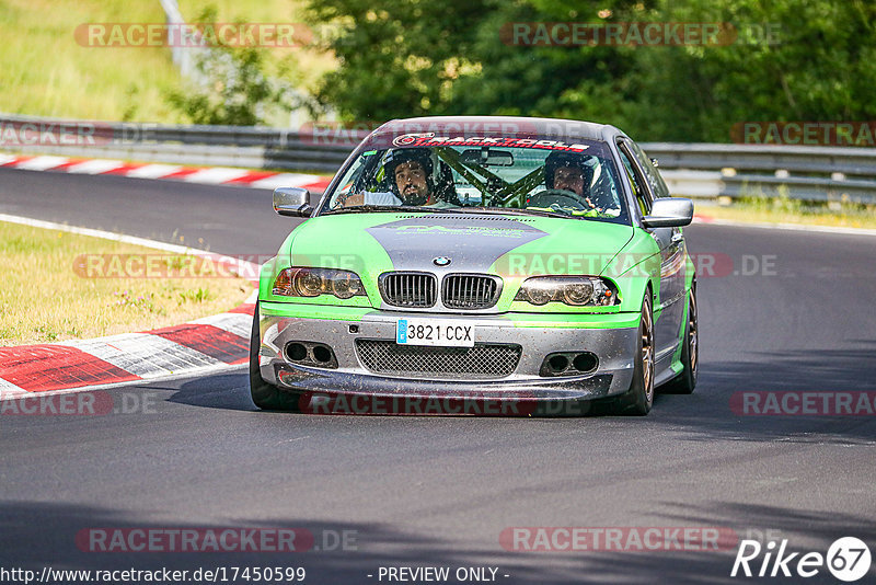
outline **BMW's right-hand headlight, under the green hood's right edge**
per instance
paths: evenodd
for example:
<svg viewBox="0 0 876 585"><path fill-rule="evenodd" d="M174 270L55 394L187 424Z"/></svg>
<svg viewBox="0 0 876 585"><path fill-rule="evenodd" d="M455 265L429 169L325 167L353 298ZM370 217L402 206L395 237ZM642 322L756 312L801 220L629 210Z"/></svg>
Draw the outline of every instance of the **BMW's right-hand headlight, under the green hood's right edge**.
<svg viewBox="0 0 876 585"><path fill-rule="evenodd" d="M616 287L599 276L532 276L523 280L514 300L532 305L557 301L572 307L608 307L619 302Z"/></svg>

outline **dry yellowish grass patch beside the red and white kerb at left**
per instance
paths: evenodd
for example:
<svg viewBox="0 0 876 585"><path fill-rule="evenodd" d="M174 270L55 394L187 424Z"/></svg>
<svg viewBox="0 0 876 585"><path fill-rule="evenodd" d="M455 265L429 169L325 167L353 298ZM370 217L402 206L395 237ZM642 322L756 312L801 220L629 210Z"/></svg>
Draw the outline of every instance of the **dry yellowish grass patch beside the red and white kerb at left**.
<svg viewBox="0 0 876 585"><path fill-rule="evenodd" d="M100 277L89 277L82 268L83 254L103 262L106 268L91 273ZM180 268L192 260L99 238L0 222L0 346L176 325L232 309L253 289L240 277L217 276L206 266L203 271L177 269L176 274L187 278L116 277L135 272L139 265L130 264L135 267L127 273L122 263L118 271L111 268L113 259L140 261L155 255L168 268Z"/></svg>

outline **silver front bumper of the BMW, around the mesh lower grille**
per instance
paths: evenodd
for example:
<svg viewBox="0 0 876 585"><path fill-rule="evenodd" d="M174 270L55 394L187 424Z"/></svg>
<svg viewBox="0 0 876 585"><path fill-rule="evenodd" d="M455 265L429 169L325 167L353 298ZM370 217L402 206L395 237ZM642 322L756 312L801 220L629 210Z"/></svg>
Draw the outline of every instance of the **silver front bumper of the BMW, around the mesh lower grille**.
<svg viewBox="0 0 876 585"><path fill-rule="evenodd" d="M624 393L632 381L638 314L568 314L561 321L556 316L538 313L435 314L431 317L473 322L479 344L519 345L517 367L498 379L434 374L396 376L367 369L356 340L394 342L396 320L404 317L428 316L260 302L262 378L280 389L306 393L518 401L604 398ZM331 347L334 354L331 367L287 359L284 348L290 342L316 342ZM545 356L560 352L590 352L598 357L598 367L583 375L540 376Z"/></svg>

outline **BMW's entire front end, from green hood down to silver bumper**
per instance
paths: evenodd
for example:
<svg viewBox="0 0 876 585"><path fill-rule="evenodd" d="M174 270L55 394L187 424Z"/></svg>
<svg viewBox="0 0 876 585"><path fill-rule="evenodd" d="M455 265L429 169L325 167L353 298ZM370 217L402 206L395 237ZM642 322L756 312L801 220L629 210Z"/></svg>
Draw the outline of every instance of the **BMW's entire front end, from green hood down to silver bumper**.
<svg viewBox="0 0 876 585"><path fill-rule="evenodd" d="M374 413L476 414L488 403L502 414L531 414L537 405L561 413L563 403L623 394L638 343L634 299L647 277L576 276L567 273L579 266L556 262L551 267L566 274L533 274L532 259L553 259L574 236L549 237L563 221L394 214L311 220L263 267L262 379L313 412L342 403ZM411 226L419 229L404 240L387 236ZM435 226L442 227L440 245L425 237ZM601 242L601 253L588 256L602 264L631 239L629 227L577 227ZM328 232L346 234L336 253L309 245ZM560 255L568 262L568 253Z"/></svg>

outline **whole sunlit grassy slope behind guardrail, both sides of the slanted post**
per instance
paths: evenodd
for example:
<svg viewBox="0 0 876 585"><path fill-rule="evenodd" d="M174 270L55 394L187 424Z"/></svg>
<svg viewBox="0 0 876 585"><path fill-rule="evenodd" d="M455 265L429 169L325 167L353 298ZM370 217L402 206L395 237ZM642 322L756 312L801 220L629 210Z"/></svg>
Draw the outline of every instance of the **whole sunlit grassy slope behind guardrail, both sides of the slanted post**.
<svg viewBox="0 0 876 585"><path fill-rule="evenodd" d="M215 5L219 22L301 22L303 0L181 2L194 21ZM165 93L184 87L168 47L88 47L73 32L87 23L163 23L157 0L5 0L0 2L0 112L74 119L183 122ZM295 83L312 87L334 67L331 56L303 49L267 49L272 67L286 59L299 73ZM288 116L270 122L288 125Z"/></svg>

